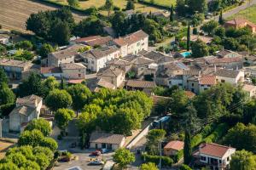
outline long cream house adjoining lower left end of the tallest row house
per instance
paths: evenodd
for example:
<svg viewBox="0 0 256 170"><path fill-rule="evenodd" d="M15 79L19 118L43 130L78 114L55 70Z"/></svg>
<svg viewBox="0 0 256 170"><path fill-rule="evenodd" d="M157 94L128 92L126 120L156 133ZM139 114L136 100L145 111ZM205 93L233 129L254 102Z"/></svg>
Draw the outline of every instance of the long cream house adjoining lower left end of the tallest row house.
<svg viewBox="0 0 256 170"><path fill-rule="evenodd" d="M119 48L116 46L95 48L80 54L80 57L84 60L87 69L96 72L106 67L108 61L119 58L119 56Z"/></svg>

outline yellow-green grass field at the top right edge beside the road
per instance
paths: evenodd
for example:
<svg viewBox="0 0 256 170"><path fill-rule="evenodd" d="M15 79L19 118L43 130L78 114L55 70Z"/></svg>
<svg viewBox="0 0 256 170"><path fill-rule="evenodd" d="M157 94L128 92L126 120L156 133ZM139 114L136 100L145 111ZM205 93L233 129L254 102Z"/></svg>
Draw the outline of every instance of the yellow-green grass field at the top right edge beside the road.
<svg viewBox="0 0 256 170"><path fill-rule="evenodd" d="M246 9L240 11L238 14L232 15L227 20L232 20L237 17L245 18L245 19L253 22L254 24L256 24L256 5L246 8Z"/></svg>

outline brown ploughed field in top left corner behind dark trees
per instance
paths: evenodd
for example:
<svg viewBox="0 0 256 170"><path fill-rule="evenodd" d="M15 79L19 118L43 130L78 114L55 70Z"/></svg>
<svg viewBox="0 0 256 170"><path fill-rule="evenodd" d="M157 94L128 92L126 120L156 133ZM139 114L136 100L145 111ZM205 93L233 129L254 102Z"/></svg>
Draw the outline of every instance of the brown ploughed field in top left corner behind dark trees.
<svg viewBox="0 0 256 170"><path fill-rule="evenodd" d="M28 0L0 0L0 25L3 29L26 31L26 20L32 13L54 10L53 6ZM74 14L75 20L82 20L83 15Z"/></svg>

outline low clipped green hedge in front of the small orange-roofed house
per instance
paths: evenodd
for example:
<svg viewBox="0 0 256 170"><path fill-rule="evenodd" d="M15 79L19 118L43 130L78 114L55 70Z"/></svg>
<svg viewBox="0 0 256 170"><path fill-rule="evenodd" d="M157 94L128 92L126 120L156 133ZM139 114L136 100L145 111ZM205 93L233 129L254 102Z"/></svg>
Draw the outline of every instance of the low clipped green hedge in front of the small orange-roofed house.
<svg viewBox="0 0 256 170"><path fill-rule="evenodd" d="M143 154L142 158L146 162L154 162L156 165L158 165L159 161L160 161L160 156L150 156L148 154ZM164 166L164 167L172 166L172 163L173 163L172 158L170 158L168 156L161 156L161 160L162 160L162 166Z"/></svg>

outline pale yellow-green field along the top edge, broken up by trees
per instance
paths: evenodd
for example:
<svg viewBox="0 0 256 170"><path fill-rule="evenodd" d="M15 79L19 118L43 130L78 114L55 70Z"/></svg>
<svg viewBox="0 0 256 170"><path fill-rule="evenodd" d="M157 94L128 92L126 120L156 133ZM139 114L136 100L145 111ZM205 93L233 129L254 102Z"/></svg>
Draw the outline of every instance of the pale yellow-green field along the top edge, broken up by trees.
<svg viewBox="0 0 256 170"><path fill-rule="evenodd" d="M52 2L61 3L63 5L68 5L67 0L50 0ZM161 0L159 0L161 1ZM170 0L163 0L163 1L170 1ZM79 8L86 9L90 7L100 8L104 5L105 0L88 0L88 1L80 1ZM127 1L126 0L113 0L113 4L119 8L125 8ZM149 7L148 5L135 3L135 10L140 12L155 12L159 11L159 8Z"/></svg>

